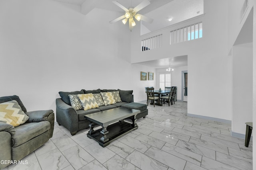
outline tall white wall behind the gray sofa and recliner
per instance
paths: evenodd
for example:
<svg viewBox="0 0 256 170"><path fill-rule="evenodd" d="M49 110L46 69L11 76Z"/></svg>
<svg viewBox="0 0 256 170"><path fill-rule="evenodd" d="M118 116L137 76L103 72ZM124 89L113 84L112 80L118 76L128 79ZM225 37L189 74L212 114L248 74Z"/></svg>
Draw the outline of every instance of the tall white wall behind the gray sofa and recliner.
<svg viewBox="0 0 256 170"><path fill-rule="evenodd" d="M120 88L142 100L135 70L154 70L130 64L127 25L108 23L116 15L94 9L85 16L80 6L53 0L1 0L0 96L20 96L28 111L55 111L59 91Z"/></svg>

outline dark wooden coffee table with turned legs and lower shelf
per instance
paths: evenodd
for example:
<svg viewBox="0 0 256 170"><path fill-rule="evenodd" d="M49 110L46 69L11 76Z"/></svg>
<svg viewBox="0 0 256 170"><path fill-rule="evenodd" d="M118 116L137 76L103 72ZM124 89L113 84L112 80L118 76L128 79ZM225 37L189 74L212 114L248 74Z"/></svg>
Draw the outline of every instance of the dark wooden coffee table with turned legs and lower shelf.
<svg viewBox="0 0 256 170"><path fill-rule="evenodd" d="M87 137L97 141L100 146L106 147L116 138L138 129L136 124L138 113L140 110L117 107L85 115L85 119L90 121L90 131ZM128 117L132 119L132 123L124 121ZM100 125L102 129L94 130L96 125Z"/></svg>

